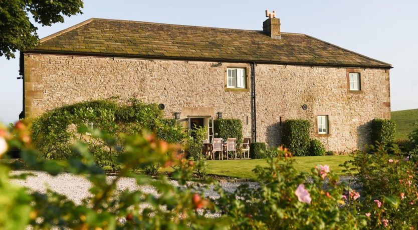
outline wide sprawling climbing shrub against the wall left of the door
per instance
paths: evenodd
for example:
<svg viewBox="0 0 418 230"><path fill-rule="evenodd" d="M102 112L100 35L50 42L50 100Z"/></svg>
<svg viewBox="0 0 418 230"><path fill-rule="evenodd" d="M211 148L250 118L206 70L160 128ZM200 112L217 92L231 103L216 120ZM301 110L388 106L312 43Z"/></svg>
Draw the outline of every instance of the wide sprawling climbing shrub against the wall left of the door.
<svg viewBox="0 0 418 230"><path fill-rule="evenodd" d="M114 150L109 143L94 138L87 130L79 132L91 122L94 123L93 129L100 128L116 136L114 140L119 144L124 141L123 134L144 130L155 131L158 138L169 143L183 142L187 135L175 120L164 119L156 104L132 99L128 105L119 105L108 99L66 105L35 118L31 127L34 144L48 159L68 159L72 156L71 144L77 139L84 140L92 145L90 150L99 165L117 168L115 158L106 156L112 155Z"/></svg>

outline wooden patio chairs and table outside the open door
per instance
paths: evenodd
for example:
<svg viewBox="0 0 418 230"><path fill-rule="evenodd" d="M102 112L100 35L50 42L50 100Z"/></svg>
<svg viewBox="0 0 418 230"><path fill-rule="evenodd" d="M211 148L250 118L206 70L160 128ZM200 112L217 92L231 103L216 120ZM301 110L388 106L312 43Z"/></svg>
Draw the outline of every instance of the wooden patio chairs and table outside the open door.
<svg viewBox="0 0 418 230"><path fill-rule="evenodd" d="M237 138L227 138L226 141L223 138L214 138L212 143L204 140L203 154L206 159L215 160L218 156L218 159L223 160L224 158L230 159L229 153L231 152L231 158L237 159L237 150L241 150L244 157L240 156L240 158L250 159L250 141L250 138L244 138L243 143L237 144Z"/></svg>

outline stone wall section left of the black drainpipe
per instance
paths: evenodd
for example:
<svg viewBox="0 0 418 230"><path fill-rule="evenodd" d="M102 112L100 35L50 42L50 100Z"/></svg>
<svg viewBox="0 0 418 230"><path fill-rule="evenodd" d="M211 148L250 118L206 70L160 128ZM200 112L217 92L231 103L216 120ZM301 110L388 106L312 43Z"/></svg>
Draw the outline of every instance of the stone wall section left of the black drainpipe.
<svg viewBox="0 0 418 230"><path fill-rule="evenodd" d="M225 91L228 63L25 54L25 115L119 96L163 103L166 117L240 118L251 134L251 92ZM249 74L249 73L248 73ZM247 116L249 123L247 124Z"/></svg>

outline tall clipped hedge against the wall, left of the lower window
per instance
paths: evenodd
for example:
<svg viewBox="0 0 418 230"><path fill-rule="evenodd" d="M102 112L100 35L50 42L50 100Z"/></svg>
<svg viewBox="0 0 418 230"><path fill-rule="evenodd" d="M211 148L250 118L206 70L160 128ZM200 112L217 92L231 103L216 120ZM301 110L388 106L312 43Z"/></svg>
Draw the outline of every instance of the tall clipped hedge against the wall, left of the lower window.
<svg viewBox="0 0 418 230"><path fill-rule="evenodd" d="M282 141L295 156L308 155L309 138L309 120L289 119L284 122Z"/></svg>

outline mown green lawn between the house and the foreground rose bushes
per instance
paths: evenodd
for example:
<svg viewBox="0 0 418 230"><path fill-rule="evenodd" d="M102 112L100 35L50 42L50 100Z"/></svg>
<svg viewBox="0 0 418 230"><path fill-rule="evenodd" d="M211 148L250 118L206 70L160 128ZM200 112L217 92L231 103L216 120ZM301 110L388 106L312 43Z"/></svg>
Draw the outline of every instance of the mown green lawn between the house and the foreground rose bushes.
<svg viewBox="0 0 418 230"><path fill-rule="evenodd" d="M343 168L339 167L338 164L344 163L344 161L349 160L351 157L349 155L327 155L296 156L294 158L294 165L298 171L309 172L317 164L328 164L331 170L341 174ZM207 173L255 179L255 174L252 170L256 165L267 166L266 159L207 160Z"/></svg>

